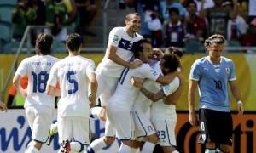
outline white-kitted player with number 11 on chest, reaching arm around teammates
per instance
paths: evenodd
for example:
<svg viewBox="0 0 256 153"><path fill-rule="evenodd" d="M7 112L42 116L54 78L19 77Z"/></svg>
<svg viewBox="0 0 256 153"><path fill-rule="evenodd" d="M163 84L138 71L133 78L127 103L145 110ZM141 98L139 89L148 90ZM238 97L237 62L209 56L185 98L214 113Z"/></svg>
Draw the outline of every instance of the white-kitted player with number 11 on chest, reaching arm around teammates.
<svg viewBox="0 0 256 153"><path fill-rule="evenodd" d="M117 132L117 137L122 141L119 149L121 153L130 152L132 146L131 138L133 137L134 123L131 116L131 107L138 91L137 88L131 85L131 77L138 77L142 80L148 78L161 84L167 84L172 82L173 78L177 76L177 72L173 72L163 77L148 65L153 55L150 42L141 40L137 42L136 46L134 47L135 61L141 60L143 65L136 69L125 68L122 71L116 91L108 101L107 115L110 124L113 124ZM143 150L143 152L148 152L148 150Z"/></svg>

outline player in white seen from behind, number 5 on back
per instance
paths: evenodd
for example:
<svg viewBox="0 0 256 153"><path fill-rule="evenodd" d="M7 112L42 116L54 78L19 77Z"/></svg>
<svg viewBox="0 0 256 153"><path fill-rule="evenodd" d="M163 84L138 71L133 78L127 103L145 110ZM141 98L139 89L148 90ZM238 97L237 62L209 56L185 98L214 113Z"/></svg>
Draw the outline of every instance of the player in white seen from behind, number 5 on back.
<svg viewBox="0 0 256 153"><path fill-rule="evenodd" d="M82 152L84 145L90 143L89 110L90 105L95 105L97 90L95 63L79 55L82 48L79 34L67 36L66 48L68 56L55 63L50 71L47 94L54 95L55 84L60 82L59 152Z"/></svg>

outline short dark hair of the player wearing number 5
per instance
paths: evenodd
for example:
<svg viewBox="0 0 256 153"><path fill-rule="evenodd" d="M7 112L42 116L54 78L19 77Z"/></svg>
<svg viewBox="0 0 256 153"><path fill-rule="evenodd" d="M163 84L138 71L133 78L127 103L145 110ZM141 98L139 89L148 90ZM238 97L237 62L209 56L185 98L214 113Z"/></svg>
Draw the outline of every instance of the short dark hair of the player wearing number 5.
<svg viewBox="0 0 256 153"><path fill-rule="evenodd" d="M82 37L78 33L70 34L67 36L66 44L71 52L77 52L82 44Z"/></svg>

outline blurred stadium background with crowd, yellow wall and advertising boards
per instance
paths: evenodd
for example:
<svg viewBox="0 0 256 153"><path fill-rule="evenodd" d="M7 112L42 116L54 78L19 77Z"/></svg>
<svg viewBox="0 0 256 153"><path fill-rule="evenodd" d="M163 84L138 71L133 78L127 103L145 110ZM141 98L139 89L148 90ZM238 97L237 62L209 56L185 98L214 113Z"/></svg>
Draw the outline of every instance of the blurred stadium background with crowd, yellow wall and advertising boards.
<svg viewBox="0 0 256 153"><path fill-rule="evenodd" d="M195 0L195 3L189 0L0 0L0 89L1 99L9 105L7 113L0 112L0 152L22 152L30 140L31 132L22 110L24 99L15 92L11 81L20 61L34 54L37 34L51 32L55 36L52 53L62 58L67 55L64 43L67 34L78 32L84 38L82 54L98 64L107 46L108 32L114 26L125 26L125 14L135 11L141 14L140 33L155 48L176 46L185 53L182 65L186 79L177 104L177 149L201 152L196 140L197 128L188 122L189 70L195 59L207 54L203 40L217 32L227 39L224 55L235 62L246 110L244 116L236 115L236 102L232 99L233 152L256 152L256 82L253 82L256 1ZM170 8L177 8L178 14L169 15ZM99 137L104 122L92 120L91 129L94 138ZM114 152L118 146L117 142L102 152ZM57 149L56 138L42 152Z"/></svg>

